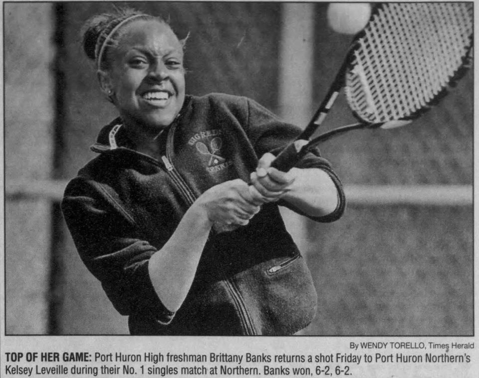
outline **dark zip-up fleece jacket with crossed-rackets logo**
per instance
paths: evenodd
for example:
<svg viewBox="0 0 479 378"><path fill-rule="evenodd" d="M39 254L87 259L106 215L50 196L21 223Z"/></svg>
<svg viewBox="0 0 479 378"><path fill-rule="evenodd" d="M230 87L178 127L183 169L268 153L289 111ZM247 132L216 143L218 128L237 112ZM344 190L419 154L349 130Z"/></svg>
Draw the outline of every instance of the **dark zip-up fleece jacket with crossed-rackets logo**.
<svg viewBox="0 0 479 378"><path fill-rule="evenodd" d="M62 210L82 260L129 316L132 334L285 335L312 320L312 279L278 204L301 212L287 203L263 205L233 232L213 230L176 313L161 303L148 273L150 256L196 198L227 180L247 182L258 156L278 151L299 132L254 101L224 94L187 96L160 138L161 161L130 148L119 119L100 131L92 146L99 156L70 181ZM296 166L325 170L338 189L336 210L310 218L339 218L344 194L330 164L313 151Z"/></svg>

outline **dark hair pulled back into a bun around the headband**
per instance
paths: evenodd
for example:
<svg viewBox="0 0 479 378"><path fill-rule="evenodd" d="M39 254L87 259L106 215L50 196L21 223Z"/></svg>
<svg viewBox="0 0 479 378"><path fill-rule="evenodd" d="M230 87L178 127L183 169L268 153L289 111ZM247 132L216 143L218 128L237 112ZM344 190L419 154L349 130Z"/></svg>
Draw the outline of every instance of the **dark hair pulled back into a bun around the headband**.
<svg viewBox="0 0 479 378"><path fill-rule="evenodd" d="M134 17L133 17L134 16ZM118 39L118 30L109 37L107 44L104 47L104 52L101 57L98 56L101 46L105 43L106 38L118 26L121 22L127 21L128 18L133 17L132 20L137 19L155 19L163 23L167 23L163 18L158 16L152 16L135 10L133 8L115 8L113 12L101 13L89 18L83 25L82 34L82 47L86 56L97 62L99 68L109 68L108 63L108 48L116 45ZM121 28L121 27L120 27ZM101 62L97 59L100 58Z"/></svg>

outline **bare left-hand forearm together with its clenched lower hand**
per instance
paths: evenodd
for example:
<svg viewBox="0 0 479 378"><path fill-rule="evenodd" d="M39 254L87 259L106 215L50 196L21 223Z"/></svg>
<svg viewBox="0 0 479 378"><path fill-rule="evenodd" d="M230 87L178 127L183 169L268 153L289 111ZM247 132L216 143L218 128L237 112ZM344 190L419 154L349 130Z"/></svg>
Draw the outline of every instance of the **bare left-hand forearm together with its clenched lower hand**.
<svg viewBox="0 0 479 378"><path fill-rule="evenodd" d="M246 225L259 211L251 202L248 184L236 179L211 187L188 209L148 265L153 287L167 309L176 311L185 300L213 224Z"/></svg>

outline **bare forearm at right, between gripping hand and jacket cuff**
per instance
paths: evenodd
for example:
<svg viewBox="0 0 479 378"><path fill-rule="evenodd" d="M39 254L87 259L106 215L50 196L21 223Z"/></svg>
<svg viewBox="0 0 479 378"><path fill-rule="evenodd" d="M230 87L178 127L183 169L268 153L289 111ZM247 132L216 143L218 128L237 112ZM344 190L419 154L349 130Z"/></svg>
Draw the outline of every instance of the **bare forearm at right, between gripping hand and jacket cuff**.
<svg viewBox="0 0 479 378"><path fill-rule="evenodd" d="M282 199L304 213L320 217L332 213L338 206L338 191L333 180L319 168L292 168L294 176Z"/></svg>

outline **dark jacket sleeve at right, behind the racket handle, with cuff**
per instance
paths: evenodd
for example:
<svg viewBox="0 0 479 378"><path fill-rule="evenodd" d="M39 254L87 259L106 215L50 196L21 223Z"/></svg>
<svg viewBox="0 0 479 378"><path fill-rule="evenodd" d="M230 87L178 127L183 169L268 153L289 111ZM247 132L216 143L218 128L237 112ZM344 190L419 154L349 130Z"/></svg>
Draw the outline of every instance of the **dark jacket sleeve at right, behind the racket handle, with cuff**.
<svg viewBox="0 0 479 378"><path fill-rule="evenodd" d="M248 117L247 132L254 150L258 157L266 152L277 155L284 147L291 143L300 133L301 129L297 126L280 121L274 114L266 108L248 99ZM313 217L305 214L295 206L280 201L278 204L285 206L294 212L308 217L316 222L333 222L339 219L345 209L346 199L343 186L339 177L334 172L331 164L325 158L321 157L318 148L312 148L296 164L297 168L319 168L324 170L331 177L338 193L338 205L336 209L327 215Z"/></svg>

